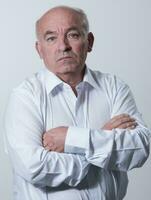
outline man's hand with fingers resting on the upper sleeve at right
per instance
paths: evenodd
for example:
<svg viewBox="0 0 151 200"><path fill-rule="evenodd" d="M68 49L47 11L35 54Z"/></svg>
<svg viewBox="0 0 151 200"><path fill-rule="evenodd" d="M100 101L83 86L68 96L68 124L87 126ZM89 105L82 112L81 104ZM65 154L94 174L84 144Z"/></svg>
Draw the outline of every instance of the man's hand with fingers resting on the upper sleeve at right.
<svg viewBox="0 0 151 200"><path fill-rule="evenodd" d="M121 114L113 117L102 127L102 129L104 130L112 130L114 128L134 129L136 126L137 123L134 118L130 117L128 114Z"/></svg>

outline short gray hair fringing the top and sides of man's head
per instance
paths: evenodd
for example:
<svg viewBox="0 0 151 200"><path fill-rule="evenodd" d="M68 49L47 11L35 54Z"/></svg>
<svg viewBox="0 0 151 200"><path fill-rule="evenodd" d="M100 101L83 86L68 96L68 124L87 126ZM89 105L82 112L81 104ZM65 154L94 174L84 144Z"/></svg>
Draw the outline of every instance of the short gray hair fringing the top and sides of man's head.
<svg viewBox="0 0 151 200"><path fill-rule="evenodd" d="M84 34L88 34L88 32L89 32L89 21L88 21L86 13L82 9L76 8L76 7L69 7L69 6L56 6L56 7L51 8L50 10L57 9L57 8L68 9L68 10L76 12L81 17L81 22L82 22ZM46 13L48 13L50 10L48 10ZM39 27L40 19L38 19L37 22L36 22L36 36L37 36L37 38L38 38L38 35L39 35L38 34L38 32L39 32L38 27Z"/></svg>

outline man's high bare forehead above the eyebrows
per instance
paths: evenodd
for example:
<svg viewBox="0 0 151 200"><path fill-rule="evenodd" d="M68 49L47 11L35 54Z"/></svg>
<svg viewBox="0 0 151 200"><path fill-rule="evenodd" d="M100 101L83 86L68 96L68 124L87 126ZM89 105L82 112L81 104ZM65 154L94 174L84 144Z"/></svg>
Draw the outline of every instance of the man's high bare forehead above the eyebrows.
<svg viewBox="0 0 151 200"><path fill-rule="evenodd" d="M68 29L70 27L82 28L81 17L76 11L67 9L55 9L47 12L38 23L38 31L44 33L47 30Z"/></svg>

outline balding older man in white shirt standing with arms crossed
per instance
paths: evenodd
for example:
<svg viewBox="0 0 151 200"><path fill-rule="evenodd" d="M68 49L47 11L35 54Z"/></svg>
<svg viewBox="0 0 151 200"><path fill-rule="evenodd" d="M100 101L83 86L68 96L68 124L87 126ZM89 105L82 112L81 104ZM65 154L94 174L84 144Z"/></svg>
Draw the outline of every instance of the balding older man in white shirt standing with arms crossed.
<svg viewBox="0 0 151 200"><path fill-rule="evenodd" d="M14 200L122 200L127 171L149 154L129 87L86 66L94 36L82 10L52 8L36 33L46 68L13 90L5 117Z"/></svg>

